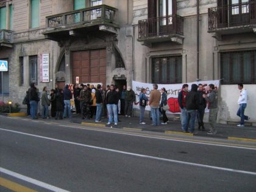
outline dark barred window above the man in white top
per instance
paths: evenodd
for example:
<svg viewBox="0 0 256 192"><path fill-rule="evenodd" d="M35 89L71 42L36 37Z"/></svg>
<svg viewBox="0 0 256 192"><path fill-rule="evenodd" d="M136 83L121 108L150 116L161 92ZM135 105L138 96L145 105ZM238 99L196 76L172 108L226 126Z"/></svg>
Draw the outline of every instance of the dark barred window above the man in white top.
<svg viewBox="0 0 256 192"><path fill-rule="evenodd" d="M222 84L256 83L256 50L221 53Z"/></svg>

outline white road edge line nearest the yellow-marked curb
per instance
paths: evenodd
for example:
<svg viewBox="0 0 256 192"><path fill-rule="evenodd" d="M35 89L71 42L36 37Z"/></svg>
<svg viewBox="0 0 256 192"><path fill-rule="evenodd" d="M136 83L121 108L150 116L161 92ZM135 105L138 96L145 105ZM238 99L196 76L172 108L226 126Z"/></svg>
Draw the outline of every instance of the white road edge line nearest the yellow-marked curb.
<svg viewBox="0 0 256 192"><path fill-rule="evenodd" d="M97 128L91 128L91 127L77 127L77 126L64 126L64 125L59 125L59 126L70 127L75 129L93 130L98 132L115 133L120 135L129 135L134 137L154 138L158 140L179 141L183 143L195 143L195 144L205 144L205 145L211 145L211 146L221 146L221 147L227 147L227 148L256 150L256 146L250 146L245 144L221 143L221 142L215 142L215 141L198 141L194 139L185 139L185 138L167 137L167 136L152 136L146 133L127 133L127 132L123 132L122 130L113 130L113 129L97 129Z"/></svg>

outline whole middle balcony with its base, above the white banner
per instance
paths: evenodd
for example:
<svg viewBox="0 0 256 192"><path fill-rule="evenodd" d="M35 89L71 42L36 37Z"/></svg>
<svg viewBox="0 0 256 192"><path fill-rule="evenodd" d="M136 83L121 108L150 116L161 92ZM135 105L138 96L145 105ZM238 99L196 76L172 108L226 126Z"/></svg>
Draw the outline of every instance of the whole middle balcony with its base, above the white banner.
<svg viewBox="0 0 256 192"><path fill-rule="evenodd" d="M162 41L182 44L183 38L182 16L168 15L138 21L138 41L146 46Z"/></svg>

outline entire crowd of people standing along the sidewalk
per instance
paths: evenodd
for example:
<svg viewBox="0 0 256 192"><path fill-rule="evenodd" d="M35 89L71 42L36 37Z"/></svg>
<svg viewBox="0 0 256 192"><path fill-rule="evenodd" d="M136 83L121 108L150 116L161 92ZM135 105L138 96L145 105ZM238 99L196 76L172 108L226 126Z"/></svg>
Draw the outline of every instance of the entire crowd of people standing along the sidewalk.
<svg viewBox="0 0 256 192"><path fill-rule="evenodd" d="M215 85L208 85L207 90L202 84L192 84L189 91L188 84L182 85L182 90L178 95L178 102L181 113L181 125L183 132L194 132L195 122L197 119L198 130L205 130L204 113L208 106L210 130L208 134L216 134L216 120L218 115L218 88ZM247 91L244 90L243 84L238 84L240 90L240 97L238 104L240 105L236 115L240 116L239 127L244 126L244 121L249 120L250 117L244 115L244 110L247 105ZM30 84L30 88L26 91L26 97L23 104L27 105L27 115L32 119L38 118L38 103L41 99L41 117L47 119L49 115L49 106L51 105L51 117L55 119L72 118L71 113L71 99L74 96L74 105L76 113L82 116L82 119L91 119L95 116L95 122L102 121L102 117L108 116L107 124L118 124L118 115L124 115L127 118L132 116L133 103L135 103L135 92L130 86L120 91L115 85L107 85L107 88L100 84L95 88L94 85L75 84L73 93L66 84L63 89L56 84L55 89L48 94L48 88L44 87L40 94L35 84ZM146 89L142 88L139 95L140 105L140 124L144 122L144 112L146 106L151 108L152 126L160 125L160 113L163 115L163 122L168 123L166 110L168 110L168 93L163 87L158 90L158 85L153 85L150 97L146 96Z"/></svg>

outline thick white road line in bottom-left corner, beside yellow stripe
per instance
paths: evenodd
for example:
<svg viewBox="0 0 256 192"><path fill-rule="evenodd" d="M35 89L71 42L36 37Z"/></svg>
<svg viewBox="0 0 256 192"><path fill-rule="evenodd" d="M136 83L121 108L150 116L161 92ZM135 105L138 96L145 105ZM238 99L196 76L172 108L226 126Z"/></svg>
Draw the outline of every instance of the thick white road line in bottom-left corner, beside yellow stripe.
<svg viewBox="0 0 256 192"><path fill-rule="evenodd" d="M10 171L10 170L5 169L5 168L0 167L0 172L3 172L3 173L5 173L9 176L16 177L18 179L24 180L26 182L32 183L34 185L43 187L43 188L51 190L51 191L69 192L69 191L63 190L62 188L55 187L53 185L49 185L48 183L40 182L40 180L36 180L36 179L32 179L32 178L27 177L27 176L23 176L21 174L18 174L17 172L13 172L13 171Z"/></svg>

